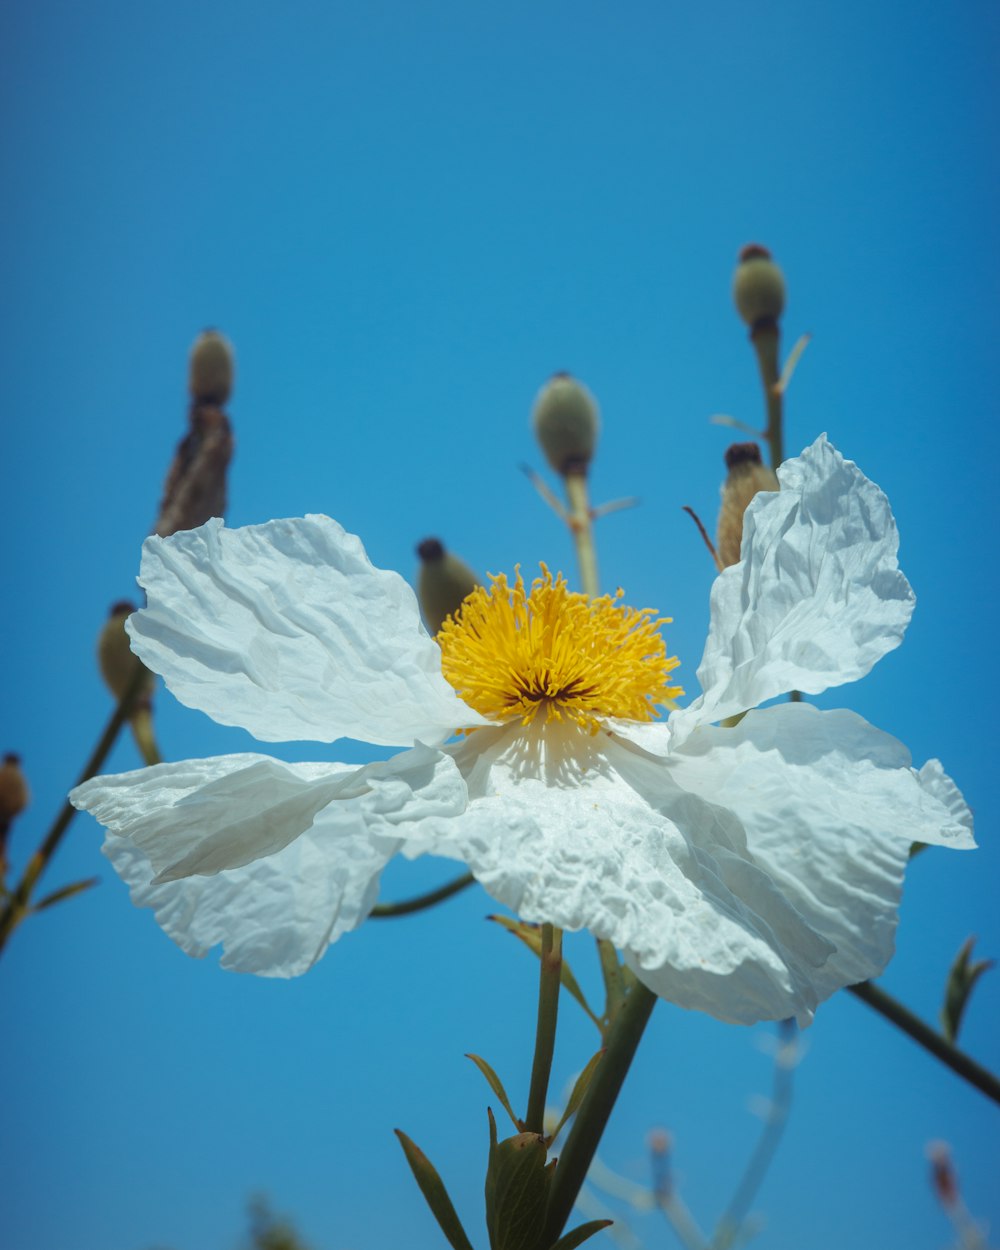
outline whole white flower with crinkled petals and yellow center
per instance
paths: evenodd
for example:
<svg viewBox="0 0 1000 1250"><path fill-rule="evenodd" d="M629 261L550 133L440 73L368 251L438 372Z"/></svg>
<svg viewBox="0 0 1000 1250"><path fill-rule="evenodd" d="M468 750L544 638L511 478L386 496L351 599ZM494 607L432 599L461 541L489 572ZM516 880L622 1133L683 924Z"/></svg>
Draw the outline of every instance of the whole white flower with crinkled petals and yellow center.
<svg viewBox="0 0 1000 1250"><path fill-rule="evenodd" d="M371 910L391 855L464 861L526 920L586 928L656 994L808 1022L892 952L912 841L972 846L938 761L850 711L765 700L862 676L914 596L889 502L819 439L758 495L711 594L702 694L674 691L649 612L550 578L466 601L442 650L409 586L324 516L151 538L132 646L259 739L409 748L361 769L230 755L98 778L72 801L192 955L310 968ZM459 698L464 694L465 701ZM458 742L440 745L455 730Z"/></svg>

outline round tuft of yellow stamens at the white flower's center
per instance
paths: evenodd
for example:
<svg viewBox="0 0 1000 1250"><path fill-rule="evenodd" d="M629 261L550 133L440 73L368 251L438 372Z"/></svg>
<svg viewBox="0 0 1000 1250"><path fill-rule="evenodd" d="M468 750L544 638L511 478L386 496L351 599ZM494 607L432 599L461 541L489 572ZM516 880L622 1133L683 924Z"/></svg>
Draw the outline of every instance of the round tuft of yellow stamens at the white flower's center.
<svg viewBox="0 0 1000 1250"><path fill-rule="evenodd" d="M588 599L541 571L530 592L520 570L512 586L492 578L441 626L441 670L470 708L524 725L565 718L596 732L609 716L652 720L655 704L684 694L668 680L680 662L660 634L670 618L621 606L621 590Z"/></svg>

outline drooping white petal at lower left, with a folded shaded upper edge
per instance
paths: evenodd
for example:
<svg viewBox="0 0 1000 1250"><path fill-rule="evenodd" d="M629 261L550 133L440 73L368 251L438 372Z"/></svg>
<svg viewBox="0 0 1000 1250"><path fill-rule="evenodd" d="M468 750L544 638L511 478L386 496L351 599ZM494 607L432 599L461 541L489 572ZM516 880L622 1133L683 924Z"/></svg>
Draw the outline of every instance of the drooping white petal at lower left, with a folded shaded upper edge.
<svg viewBox="0 0 1000 1250"><path fill-rule="evenodd" d="M268 762L288 775L278 782L271 775L262 789L240 784L248 775L264 780L259 769ZM289 802L296 786L301 801ZM324 788L328 801L302 830ZM268 819L258 821L255 812L269 795L280 795L270 814L285 824L265 831ZM296 976L369 914L399 831L456 814L466 790L449 756L418 746L361 769L254 755L190 760L99 778L71 798L109 825L104 850L132 901L152 908L188 954L222 944L224 968ZM220 840L216 818L226 810ZM195 875L178 876L179 854Z"/></svg>

